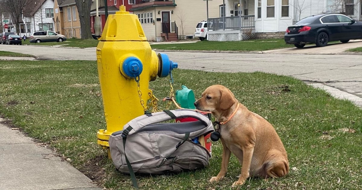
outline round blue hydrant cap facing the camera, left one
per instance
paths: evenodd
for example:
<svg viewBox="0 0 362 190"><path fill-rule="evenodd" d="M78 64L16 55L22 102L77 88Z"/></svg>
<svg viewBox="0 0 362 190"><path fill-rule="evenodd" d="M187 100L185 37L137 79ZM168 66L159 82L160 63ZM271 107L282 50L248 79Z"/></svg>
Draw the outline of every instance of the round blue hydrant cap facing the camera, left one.
<svg viewBox="0 0 362 190"><path fill-rule="evenodd" d="M131 56L123 61L122 69L127 76L133 78L135 76L138 77L142 73L143 65L141 60Z"/></svg>

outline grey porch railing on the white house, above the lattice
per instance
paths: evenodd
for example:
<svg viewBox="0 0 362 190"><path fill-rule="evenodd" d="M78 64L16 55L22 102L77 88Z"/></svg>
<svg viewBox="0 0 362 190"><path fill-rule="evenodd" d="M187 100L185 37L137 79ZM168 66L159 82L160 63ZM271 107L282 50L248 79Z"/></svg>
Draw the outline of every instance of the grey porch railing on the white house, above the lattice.
<svg viewBox="0 0 362 190"><path fill-rule="evenodd" d="M207 30L241 30L255 28L255 16L219 17L207 19Z"/></svg>

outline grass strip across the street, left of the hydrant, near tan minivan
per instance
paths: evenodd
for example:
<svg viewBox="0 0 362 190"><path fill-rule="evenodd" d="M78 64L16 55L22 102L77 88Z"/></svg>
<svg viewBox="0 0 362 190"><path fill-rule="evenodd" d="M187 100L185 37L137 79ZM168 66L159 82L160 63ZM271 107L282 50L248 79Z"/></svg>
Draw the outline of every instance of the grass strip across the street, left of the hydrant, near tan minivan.
<svg viewBox="0 0 362 190"><path fill-rule="evenodd" d="M62 44L63 47L79 47L79 48L87 48L87 47L97 47L98 40L95 39L78 39L78 38L70 38L67 39L67 41L64 42L41 42L41 43L30 43L29 39L27 39L25 42L23 41L23 45L38 45L38 46L57 46Z"/></svg>

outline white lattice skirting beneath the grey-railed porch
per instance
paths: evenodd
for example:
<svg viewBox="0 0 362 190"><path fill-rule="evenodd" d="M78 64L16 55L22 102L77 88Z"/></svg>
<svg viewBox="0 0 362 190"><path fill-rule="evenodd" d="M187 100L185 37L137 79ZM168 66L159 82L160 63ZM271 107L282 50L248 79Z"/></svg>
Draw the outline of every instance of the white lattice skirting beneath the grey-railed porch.
<svg viewBox="0 0 362 190"><path fill-rule="evenodd" d="M237 33L235 33L235 31ZM209 31L207 33L208 41L242 41L249 39L256 39L256 33L243 33L243 31L235 30L235 31Z"/></svg>

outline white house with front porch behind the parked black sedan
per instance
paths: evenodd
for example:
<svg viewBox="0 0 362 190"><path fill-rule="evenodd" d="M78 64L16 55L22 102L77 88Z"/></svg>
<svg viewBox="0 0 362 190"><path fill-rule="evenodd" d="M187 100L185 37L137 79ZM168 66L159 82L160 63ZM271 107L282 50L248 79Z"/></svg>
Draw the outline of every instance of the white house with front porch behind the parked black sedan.
<svg viewBox="0 0 362 190"><path fill-rule="evenodd" d="M362 0L224 0L220 15L208 19L209 41L240 41L281 37L288 26L302 18L328 12L362 19ZM345 2L345 3L340 3ZM225 11L223 11L225 9Z"/></svg>

